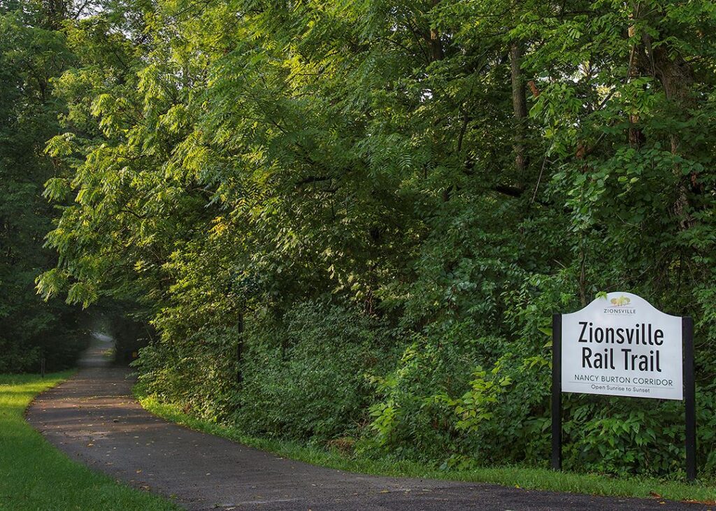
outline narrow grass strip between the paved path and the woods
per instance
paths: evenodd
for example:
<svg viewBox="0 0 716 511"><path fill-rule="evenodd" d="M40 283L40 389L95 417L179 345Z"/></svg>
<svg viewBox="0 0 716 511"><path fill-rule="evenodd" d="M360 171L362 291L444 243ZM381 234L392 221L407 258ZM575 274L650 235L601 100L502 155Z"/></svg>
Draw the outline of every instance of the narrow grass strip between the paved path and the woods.
<svg viewBox="0 0 716 511"><path fill-rule="evenodd" d="M486 467L469 470L439 470L415 462L346 457L335 449L327 450L304 444L278 439L250 437L232 427L196 419L170 404L163 404L149 396L138 396L142 407L153 414L191 429L215 434L257 449L274 452L280 456L303 462L362 472L365 474L424 477L470 482L488 482L496 485L516 486L529 490L553 490L589 495L614 497L645 497L666 500L705 502L715 505L716 487L704 483L662 481L646 477L608 477L600 474L576 474L574 472L553 472L549 469L532 467Z"/></svg>

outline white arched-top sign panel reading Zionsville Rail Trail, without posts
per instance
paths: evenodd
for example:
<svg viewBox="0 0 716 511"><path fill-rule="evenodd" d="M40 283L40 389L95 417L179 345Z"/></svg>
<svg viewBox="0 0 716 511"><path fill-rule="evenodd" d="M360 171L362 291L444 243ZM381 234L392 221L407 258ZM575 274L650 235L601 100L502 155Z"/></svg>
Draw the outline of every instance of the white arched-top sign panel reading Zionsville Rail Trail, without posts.
<svg viewBox="0 0 716 511"><path fill-rule="evenodd" d="M562 315L562 391L683 399L682 318L631 293Z"/></svg>

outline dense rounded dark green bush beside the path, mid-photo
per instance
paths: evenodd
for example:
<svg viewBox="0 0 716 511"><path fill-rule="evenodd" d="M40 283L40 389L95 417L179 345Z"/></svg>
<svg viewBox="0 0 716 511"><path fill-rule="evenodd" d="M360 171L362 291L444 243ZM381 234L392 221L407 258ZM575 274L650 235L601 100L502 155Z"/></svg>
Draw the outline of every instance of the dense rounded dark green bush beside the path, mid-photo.
<svg viewBox="0 0 716 511"><path fill-rule="evenodd" d="M248 325L242 429L314 442L358 434L372 399L366 374L387 369L395 352L377 321L311 301Z"/></svg>

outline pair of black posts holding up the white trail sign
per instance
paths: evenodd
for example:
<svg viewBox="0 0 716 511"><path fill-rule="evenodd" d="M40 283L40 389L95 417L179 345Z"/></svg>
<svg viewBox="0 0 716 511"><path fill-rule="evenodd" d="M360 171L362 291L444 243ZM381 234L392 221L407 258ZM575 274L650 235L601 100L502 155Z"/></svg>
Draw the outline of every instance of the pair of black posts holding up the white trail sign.
<svg viewBox="0 0 716 511"><path fill-rule="evenodd" d="M686 409L686 479L696 479L696 389L694 321L682 318L684 405ZM552 316L552 469L562 469L562 315Z"/></svg>

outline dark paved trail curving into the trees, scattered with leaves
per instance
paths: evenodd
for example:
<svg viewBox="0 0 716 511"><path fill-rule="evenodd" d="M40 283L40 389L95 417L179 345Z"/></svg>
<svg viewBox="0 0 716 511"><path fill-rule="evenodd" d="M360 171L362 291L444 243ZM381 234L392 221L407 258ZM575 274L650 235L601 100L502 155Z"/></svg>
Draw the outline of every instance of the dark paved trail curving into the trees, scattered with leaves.
<svg viewBox="0 0 716 511"><path fill-rule="evenodd" d="M371 477L284 459L190 431L132 399L126 369L98 339L69 381L41 394L28 421L74 459L190 510L701 510L700 505Z"/></svg>

